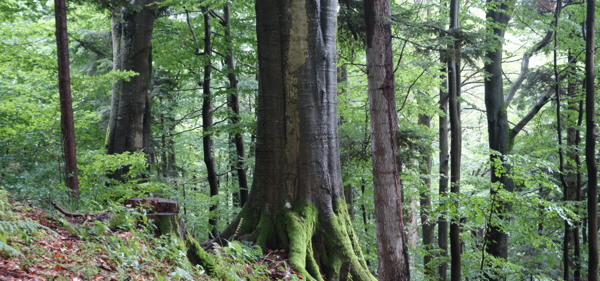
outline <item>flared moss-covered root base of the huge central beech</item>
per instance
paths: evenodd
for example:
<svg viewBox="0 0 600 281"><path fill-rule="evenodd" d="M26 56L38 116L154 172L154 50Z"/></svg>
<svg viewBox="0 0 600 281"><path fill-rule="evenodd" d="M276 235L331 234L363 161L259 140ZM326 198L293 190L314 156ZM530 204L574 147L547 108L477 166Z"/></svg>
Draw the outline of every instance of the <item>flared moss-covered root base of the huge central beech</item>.
<svg viewBox="0 0 600 281"><path fill-rule="evenodd" d="M235 230L239 226L238 233ZM368 270L343 200L335 200L325 216L310 201L275 214L247 205L220 237L256 241L271 249L287 249L290 266L307 280L375 280ZM215 238L215 242L218 241ZM222 242L222 241L221 241Z"/></svg>

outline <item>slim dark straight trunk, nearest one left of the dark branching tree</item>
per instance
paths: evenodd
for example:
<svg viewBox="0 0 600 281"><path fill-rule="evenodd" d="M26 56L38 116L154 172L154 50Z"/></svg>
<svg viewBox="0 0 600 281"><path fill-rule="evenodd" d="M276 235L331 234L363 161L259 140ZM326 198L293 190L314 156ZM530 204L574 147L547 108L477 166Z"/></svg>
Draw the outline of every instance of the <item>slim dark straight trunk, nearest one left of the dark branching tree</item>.
<svg viewBox="0 0 600 281"><path fill-rule="evenodd" d="M459 27L458 12L460 1L450 1L450 30ZM460 66L458 65L458 54L460 52L460 41L455 38L451 46L452 55L448 58L448 104L450 117L450 192L455 195L460 193L460 158L462 149L462 136L460 125ZM458 209L458 206L454 206ZM450 280L460 280L460 226L458 219L453 217L450 223Z"/></svg>

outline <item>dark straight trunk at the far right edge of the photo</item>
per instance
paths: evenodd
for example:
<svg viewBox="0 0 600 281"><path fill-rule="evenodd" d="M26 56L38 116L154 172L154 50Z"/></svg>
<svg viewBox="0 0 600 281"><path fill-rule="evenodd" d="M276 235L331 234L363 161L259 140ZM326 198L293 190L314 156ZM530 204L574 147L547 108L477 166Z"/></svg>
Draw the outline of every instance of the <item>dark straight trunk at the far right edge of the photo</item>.
<svg viewBox="0 0 600 281"><path fill-rule="evenodd" d="M598 168L594 135L594 20L596 1L587 0L586 11L586 165L587 165L587 278L598 280Z"/></svg>

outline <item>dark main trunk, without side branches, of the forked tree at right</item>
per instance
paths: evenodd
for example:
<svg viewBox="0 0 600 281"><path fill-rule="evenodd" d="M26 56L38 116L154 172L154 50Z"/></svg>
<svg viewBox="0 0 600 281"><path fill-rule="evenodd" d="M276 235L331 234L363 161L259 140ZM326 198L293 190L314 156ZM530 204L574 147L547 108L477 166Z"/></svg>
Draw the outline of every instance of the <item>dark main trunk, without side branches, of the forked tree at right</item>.
<svg viewBox="0 0 600 281"><path fill-rule="evenodd" d="M496 5L492 5L496 4ZM498 160L503 161L505 155L511 150L512 135L508 128L508 116L506 115L507 105L504 102L504 87L502 76L502 46L505 34L505 28L508 24L510 16L508 14L508 5L500 0L488 0L490 8L486 11L486 18L489 25L493 28L493 33L499 41L497 41L496 49L485 53L487 61L484 63L484 70L488 72L489 77L484 82L485 92L485 110L487 112L488 123L488 140L491 150L499 153L490 155L491 163ZM505 219L505 211L511 209L510 204L506 203L502 198L498 198L497 194L500 188L512 192L513 183L508 177L510 167L503 165L506 173L499 173L497 167L491 167L491 183L492 187L490 194L493 198L491 204L491 213L497 213L499 220ZM491 217L491 216L490 216ZM499 222L488 222L485 235L485 250L496 258L506 259L508 257L507 249L507 234L502 230ZM482 265L484 258L482 258ZM496 276L488 276L490 279L496 279Z"/></svg>

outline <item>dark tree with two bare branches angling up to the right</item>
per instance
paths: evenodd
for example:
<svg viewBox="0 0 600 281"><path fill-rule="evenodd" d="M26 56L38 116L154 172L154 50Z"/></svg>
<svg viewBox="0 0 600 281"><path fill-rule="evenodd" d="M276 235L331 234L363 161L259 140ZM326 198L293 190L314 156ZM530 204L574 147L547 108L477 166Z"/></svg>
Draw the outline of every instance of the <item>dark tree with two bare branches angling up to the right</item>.
<svg viewBox="0 0 600 281"><path fill-rule="evenodd" d="M486 17L490 21L490 27L493 29L493 34L499 39L496 49L485 54L487 62L484 63L484 70L490 75L486 78L484 83L485 106L488 120L488 140L490 149L497 152L497 154L490 155L490 160L494 161L494 159L499 159L502 161L505 155L512 152L515 137L524 126L533 119L539 110L544 107L554 93L554 87L550 87L547 92L538 99L536 104L530 108L529 112L523 116L512 129L509 128L506 110L508 109L515 92L524 80L524 77L521 77L524 76L522 75L523 72L526 74L527 71L529 71L529 61L527 60L533 53L539 52L542 47L550 42L550 36L553 32L546 32L544 38L536 43L523 56L524 61L521 62L521 74L513 81L508 95L505 98L502 76L502 41L506 25L508 25L511 18L509 13L511 13L512 10L508 2L505 1L488 0L487 2L490 8L486 11ZM566 74L559 75L559 81L562 81L565 77ZM500 188L506 189L509 192L512 192L514 189L514 182L511 177L509 177L510 168L509 165L503 164L503 170L506 171L506 173L503 174L497 174L497 169L495 167L492 167L491 170L491 182L493 183L493 187L490 190L490 194L493 198L491 212L497 213L500 220L505 217L505 214L503 213L511 210L511 204L505 203L502 198L496 197ZM497 258L506 259L508 256L507 238L506 233L500 229L496 222L488 222L487 231L485 233L485 251ZM482 266L484 265L484 260L485 256L482 256ZM498 277L488 276L488 278L494 279Z"/></svg>

